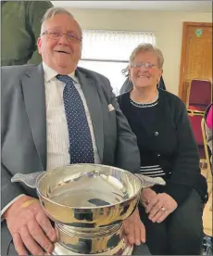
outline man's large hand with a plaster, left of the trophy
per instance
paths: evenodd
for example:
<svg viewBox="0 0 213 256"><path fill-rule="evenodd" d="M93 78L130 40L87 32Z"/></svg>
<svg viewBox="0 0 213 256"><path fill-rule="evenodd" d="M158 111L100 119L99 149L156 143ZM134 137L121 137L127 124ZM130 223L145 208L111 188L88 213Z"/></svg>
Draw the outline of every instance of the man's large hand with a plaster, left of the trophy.
<svg viewBox="0 0 213 256"><path fill-rule="evenodd" d="M19 255L28 255L25 247L33 255L53 251L56 232L38 199L28 196L19 198L6 210L4 217Z"/></svg>

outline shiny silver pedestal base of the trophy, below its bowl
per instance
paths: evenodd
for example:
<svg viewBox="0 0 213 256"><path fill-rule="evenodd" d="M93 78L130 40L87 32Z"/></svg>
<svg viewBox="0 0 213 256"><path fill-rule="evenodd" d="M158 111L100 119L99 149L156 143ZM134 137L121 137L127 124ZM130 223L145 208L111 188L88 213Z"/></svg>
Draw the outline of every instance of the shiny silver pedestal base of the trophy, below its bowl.
<svg viewBox="0 0 213 256"><path fill-rule="evenodd" d="M128 255L122 224L98 228L78 228L56 224L52 255Z"/></svg>

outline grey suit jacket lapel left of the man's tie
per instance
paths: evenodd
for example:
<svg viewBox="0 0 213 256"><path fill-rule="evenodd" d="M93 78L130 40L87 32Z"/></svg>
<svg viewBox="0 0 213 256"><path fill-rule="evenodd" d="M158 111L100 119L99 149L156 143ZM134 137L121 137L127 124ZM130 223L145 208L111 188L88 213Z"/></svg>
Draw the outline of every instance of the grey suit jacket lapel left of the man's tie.
<svg viewBox="0 0 213 256"><path fill-rule="evenodd" d="M24 102L31 134L44 170L46 169L46 114L42 64L27 71L22 79Z"/></svg>

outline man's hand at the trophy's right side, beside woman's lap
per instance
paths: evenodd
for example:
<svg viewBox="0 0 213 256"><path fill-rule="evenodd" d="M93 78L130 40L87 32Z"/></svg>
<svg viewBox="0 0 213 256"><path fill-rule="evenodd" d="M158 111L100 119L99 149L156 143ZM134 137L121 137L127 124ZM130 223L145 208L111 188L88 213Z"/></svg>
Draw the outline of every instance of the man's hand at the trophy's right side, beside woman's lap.
<svg viewBox="0 0 213 256"><path fill-rule="evenodd" d="M138 208L123 222L123 232L129 245L139 246L145 242L145 228L141 221Z"/></svg>

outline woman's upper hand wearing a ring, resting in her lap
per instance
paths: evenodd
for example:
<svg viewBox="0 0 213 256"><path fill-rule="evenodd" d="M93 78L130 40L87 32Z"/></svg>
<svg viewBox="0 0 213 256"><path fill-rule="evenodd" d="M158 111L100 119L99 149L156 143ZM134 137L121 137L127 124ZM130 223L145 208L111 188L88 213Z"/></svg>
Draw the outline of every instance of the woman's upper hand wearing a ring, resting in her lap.
<svg viewBox="0 0 213 256"><path fill-rule="evenodd" d="M168 194L159 193L148 203L145 211L153 223L162 223L177 207L177 202Z"/></svg>

